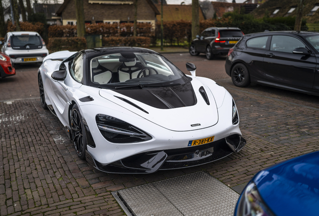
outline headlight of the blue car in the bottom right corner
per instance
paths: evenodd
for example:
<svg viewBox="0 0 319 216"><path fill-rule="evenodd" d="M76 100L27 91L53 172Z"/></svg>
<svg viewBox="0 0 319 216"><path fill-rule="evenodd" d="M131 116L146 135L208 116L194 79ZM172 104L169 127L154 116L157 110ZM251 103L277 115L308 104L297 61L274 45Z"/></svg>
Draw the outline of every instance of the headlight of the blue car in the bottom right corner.
<svg viewBox="0 0 319 216"><path fill-rule="evenodd" d="M236 216L275 216L259 195L255 183L249 183L240 196Z"/></svg>

